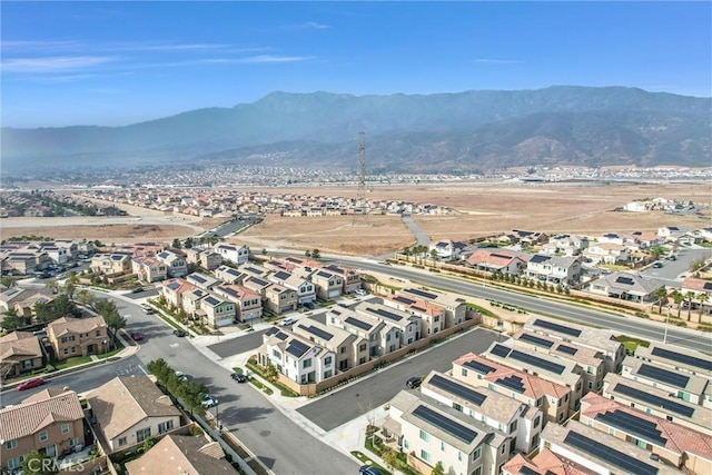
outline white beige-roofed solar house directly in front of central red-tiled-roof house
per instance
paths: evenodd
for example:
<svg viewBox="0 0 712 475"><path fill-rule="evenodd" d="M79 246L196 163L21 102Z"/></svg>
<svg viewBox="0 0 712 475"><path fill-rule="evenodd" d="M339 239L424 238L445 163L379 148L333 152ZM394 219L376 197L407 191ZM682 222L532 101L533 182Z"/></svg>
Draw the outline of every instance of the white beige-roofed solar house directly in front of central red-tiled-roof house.
<svg viewBox="0 0 712 475"><path fill-rule="evenodd" d="M502 431L512 442L511 452L528 454L538 446L544 415L535 407L486 387L472 387L437 372L427 375L421 392L493 429Z"/></svg>

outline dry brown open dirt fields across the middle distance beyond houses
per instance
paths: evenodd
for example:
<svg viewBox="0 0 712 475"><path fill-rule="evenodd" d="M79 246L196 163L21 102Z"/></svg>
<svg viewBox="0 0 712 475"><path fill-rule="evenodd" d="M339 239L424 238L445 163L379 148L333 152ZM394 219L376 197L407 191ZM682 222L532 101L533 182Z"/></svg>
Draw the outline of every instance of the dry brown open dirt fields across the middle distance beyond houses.
<svg viewBox="0 0 712 475"><path fill-rule="evenodd" d="M257 189L251 189L257 190ZM287 189L267 188L279 194ZM355 197L355 187L288 188L290 194ZM633 199L675 198L712 206L709 184L655 185L507 185L447 184L417 186L378 186L370 199L407 200L434 204L453 209L444 216L415 216L415 221L431 239L466 240L512 229L545 232L596 235L616 230L656 230L661 226L710 226L710 209L702 216L673 216L660 211L616 212L616 207ZM87 238L102 241L171 240L195 236L216 225L216 220L194 220L180 216L140 211L130 218L9 218L0 221L2 238L43 235L53 238ZM139 212L135 209L131 212ZM268 216L265 221L237 238L253 249L313 249L322 253L378 255L415 243L413 235L396 216L301 217Z"/></svg>

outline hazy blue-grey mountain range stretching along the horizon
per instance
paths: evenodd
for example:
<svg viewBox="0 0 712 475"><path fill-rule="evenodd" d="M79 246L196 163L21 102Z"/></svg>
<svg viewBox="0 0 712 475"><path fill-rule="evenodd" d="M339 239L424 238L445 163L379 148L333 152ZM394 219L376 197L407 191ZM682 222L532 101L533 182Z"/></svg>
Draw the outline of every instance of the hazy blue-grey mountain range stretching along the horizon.
<svg viewBox="0 0 712 475"><path fill-rule="evenodd" d="M1 129L6 170L200 160L354 171L712 166L712 98L556 86L434 95L273 92L125 127Z"/></svg>

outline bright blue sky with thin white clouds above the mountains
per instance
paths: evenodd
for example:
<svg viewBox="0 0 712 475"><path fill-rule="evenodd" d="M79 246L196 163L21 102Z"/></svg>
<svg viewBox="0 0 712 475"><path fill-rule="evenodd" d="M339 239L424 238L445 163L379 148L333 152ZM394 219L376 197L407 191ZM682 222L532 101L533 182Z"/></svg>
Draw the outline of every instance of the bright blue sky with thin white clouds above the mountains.
<svg viewBox="0 0 712 475"><path fill-rule="evenodd" d="M710 97L711 2L16 2L1 120L121 126L275 90Z"/></svg>

